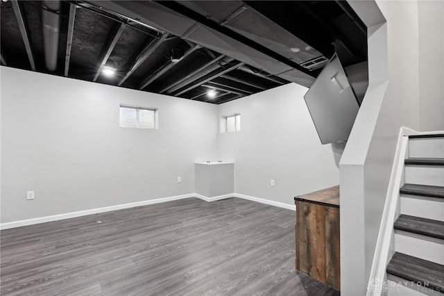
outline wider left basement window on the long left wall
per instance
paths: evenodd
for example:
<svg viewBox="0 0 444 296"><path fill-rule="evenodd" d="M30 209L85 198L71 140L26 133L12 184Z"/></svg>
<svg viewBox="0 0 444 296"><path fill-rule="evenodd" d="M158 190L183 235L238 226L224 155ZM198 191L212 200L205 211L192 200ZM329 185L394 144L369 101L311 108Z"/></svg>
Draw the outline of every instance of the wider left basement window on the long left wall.
<svg viewBox="0 0 444 296"><path fill-rule="evenodd" d="M137 129L157 129L156 109L120 106L120 126Z"/></svg>

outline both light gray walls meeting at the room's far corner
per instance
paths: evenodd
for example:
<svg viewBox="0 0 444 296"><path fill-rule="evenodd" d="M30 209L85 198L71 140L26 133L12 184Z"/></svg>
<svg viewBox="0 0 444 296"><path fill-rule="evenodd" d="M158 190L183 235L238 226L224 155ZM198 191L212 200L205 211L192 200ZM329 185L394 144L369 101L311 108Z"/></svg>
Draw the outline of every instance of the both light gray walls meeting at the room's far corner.
<svg viewBox="0 0 444 296"><path fill-rule="evenodd" d="M1 67L1 223L189 194L202 160L234 161L235 192L292 205L339 183L343 148L321 145L306 91L216 106ZM160 128L119 127L119 104L158 108ZM235 112L241 132L220 134Z"/></svg>

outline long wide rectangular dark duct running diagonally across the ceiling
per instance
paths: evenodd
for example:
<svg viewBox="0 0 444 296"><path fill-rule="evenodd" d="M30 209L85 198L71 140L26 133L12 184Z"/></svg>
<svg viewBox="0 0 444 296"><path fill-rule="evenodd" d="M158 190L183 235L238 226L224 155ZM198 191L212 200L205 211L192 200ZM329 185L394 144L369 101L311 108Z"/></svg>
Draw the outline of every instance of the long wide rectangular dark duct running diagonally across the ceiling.
<svg viewBox="0 0 444 296"><path fill-rule="evenodd" d="M89 1L89 3L96 6L103 6L132 19L139 19L140 22L161 28L181 38L186 37L186 40L194 44L230 56L272 75L279 75L291 69L296 69L291 75L285 76L282 80L293 81L305 86L314 82L314 76L316 76L314 73L309 72L290 58L268 49L268 47L262 45L259 39L251 40L241 32L234 31L234 28L228 28L233 20L222 26L185 7L189 2L191 1L181 1L180 3L174 1ZM234 4L241 3L241 1L223 2L225 3L227 16L221 17L221 19L225 21L228 16L239 9ZM205 1L194 1L193 3L203 5ZM244 6L244 4L241 6ZM176 11L176 8L178 11ZM250 14L255 15L255 12L251 10ZM251 36L248 35L248 37ZM170 90L167 92L171 94Z"/></svg>

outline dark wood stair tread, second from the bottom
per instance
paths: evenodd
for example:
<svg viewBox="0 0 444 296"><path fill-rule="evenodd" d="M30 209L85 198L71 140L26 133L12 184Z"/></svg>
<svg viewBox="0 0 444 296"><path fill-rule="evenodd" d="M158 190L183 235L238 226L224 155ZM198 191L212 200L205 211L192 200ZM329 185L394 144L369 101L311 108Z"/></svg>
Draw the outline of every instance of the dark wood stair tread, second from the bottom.
<svg viewBox="0 0 444 296"><path fill-rule="evenodd" d="M444 240L444 222L421 217L400 215L395 221L395 229L439 238Z"/></svg>

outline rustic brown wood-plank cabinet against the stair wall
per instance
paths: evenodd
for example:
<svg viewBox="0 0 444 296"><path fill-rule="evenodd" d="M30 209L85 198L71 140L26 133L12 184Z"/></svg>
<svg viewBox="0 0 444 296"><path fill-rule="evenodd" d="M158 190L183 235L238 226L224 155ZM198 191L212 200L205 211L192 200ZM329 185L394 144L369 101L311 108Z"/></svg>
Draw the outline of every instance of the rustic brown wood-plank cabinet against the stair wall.
<svg viewBox="0 0 444 296"><path fill-rule="evenodd" d="M294 198L296 270L341 289L339 186Z"/></svg>

